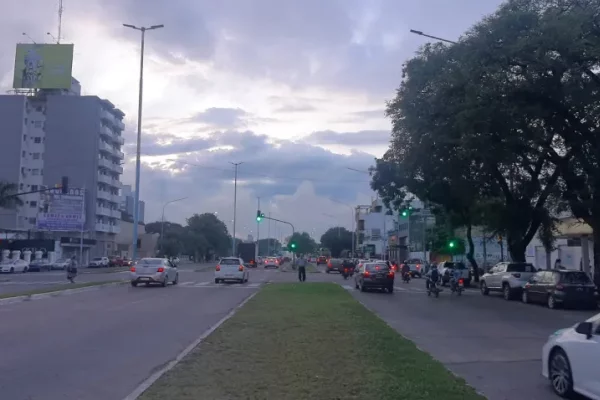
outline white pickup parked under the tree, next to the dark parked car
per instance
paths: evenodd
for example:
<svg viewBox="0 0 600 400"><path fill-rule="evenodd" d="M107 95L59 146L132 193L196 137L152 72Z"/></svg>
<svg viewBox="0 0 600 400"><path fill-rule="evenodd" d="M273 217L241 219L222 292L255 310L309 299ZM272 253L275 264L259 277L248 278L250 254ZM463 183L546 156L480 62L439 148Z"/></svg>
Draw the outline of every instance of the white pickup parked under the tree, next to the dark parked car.
<svg viewBox="0 0 600 400"><path fill-rule="evenodd" d="M490 291L502 292L505 300L512 300L521 295L523 286L536 272L537 269L530 263L500 262L481 277L479 289L485 296Z"/></svg>

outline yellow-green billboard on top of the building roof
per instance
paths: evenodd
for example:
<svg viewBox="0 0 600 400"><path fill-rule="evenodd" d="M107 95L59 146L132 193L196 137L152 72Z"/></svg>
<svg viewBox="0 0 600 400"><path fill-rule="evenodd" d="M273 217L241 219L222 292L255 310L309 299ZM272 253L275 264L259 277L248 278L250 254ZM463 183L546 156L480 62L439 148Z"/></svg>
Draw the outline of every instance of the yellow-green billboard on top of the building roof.
<svg viewBox="0 0 600 400"><path fill-rule="evenodd" d="M72 44L17 44L13 88L70 89L72 72Z"/></svg>

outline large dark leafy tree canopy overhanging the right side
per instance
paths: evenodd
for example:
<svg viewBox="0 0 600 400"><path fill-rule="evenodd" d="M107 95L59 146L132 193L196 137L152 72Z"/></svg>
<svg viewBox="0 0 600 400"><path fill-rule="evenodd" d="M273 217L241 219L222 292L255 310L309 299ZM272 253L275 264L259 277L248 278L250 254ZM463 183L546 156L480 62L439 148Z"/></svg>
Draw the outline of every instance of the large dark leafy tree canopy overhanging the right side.
<svg viewBox="0 0 600 400"><path fill-rule="evenodd" d="M424 46L388 103L392 144L373 187L396 205L403 191L450 211L483 203L479 223L506 233L515 260L550 231L549 201L561 191L576 215L590 215L597 20L597 0L513 0L456 45Z"/></svg>

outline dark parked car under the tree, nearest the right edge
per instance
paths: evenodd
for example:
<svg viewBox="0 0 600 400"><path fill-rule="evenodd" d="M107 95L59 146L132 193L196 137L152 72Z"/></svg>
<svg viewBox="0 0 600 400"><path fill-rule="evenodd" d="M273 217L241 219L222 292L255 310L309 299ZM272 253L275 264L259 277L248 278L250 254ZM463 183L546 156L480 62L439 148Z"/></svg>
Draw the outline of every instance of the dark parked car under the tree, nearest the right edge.
<svg viewBox="0 0 600 400"><path fill-rule="evenodd" d="M581 271L548 270L535 273L523 287L523 303L546 304L548 308L573 306L597 308L598 292L590 276Z"/></svg>

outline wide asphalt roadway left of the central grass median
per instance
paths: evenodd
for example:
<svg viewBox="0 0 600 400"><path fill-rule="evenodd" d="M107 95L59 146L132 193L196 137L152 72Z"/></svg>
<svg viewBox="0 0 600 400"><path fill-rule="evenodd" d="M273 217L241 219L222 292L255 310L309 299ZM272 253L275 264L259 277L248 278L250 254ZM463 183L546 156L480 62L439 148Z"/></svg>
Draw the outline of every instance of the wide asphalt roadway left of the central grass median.
<svg viewBox="0 0 600 400"><path fill-rule="evenodd" d="M215 285L182 272L178 286L106 288L0 306L0 398L122 400L278 271Z"/></svg>

